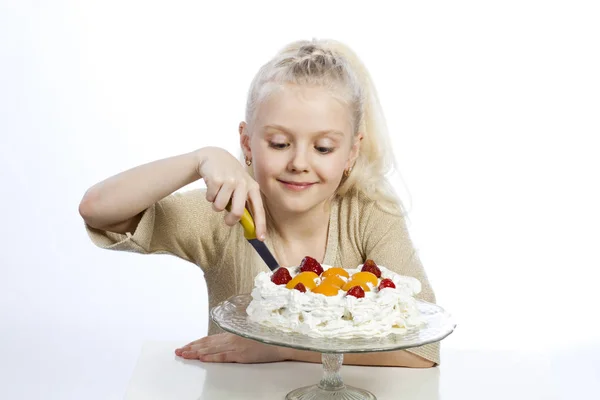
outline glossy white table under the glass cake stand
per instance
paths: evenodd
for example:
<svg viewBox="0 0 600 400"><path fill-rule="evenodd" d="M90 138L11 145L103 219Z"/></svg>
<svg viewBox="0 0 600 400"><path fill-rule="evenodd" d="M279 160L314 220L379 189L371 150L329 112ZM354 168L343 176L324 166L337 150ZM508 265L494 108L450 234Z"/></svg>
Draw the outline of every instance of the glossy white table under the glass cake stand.
<svg viewBox="0 0 600 400"><path fill-rule="evenodd" d="M178 342L144 345L126 400L277 399L321 378L320 364L203 364ZM442 350L437 368L342 367L344 382L378 400L600 399L600 347L534 352Z"/></svg>

